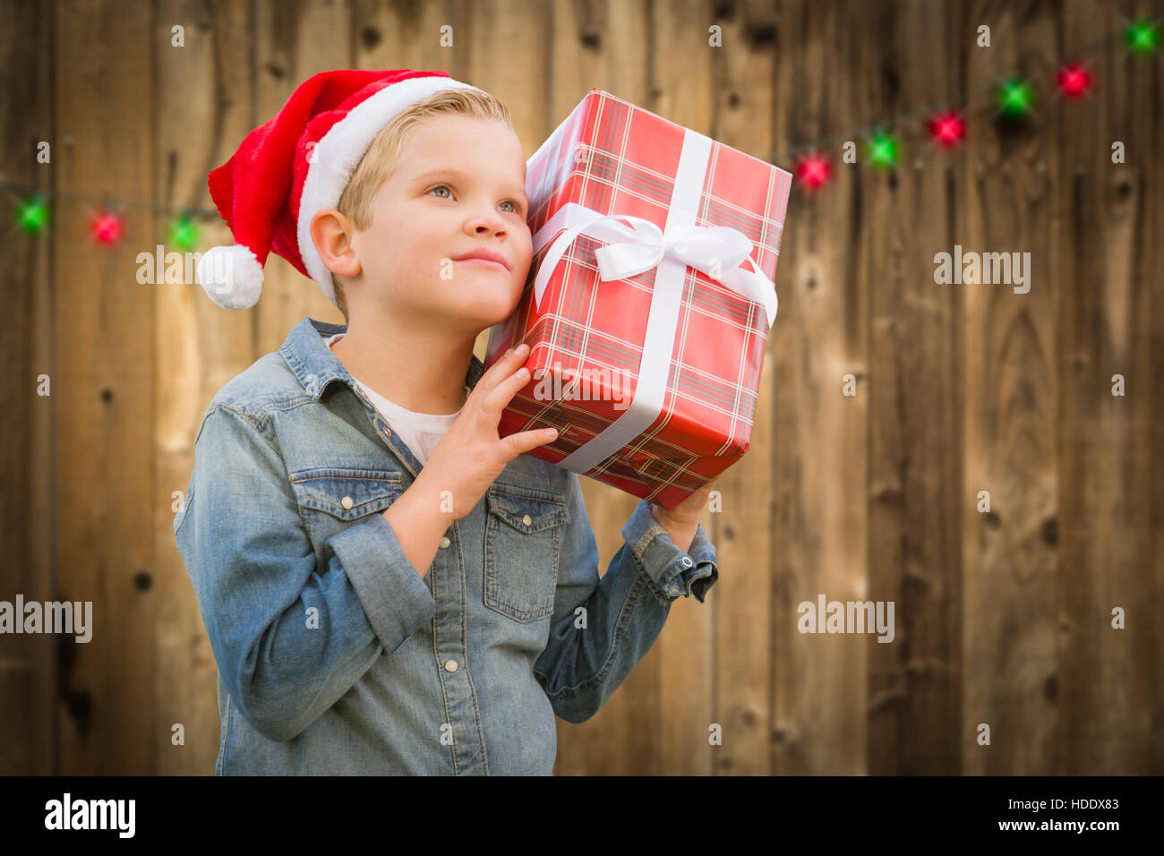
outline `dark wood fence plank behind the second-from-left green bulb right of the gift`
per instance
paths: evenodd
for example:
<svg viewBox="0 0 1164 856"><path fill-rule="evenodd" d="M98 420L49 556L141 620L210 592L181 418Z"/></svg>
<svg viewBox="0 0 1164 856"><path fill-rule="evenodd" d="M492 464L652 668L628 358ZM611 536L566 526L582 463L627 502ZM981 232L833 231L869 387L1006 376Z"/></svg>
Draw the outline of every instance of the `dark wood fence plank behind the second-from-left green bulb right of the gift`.
<svg viewBox="0 0 1164 856"><path fill-rule="evenodd" d="M951 17L954 12L928 0L893 7L892 21L875 30L866 66L870 108L911 116L895 128L903 136L900 169L879 177L859 153L874 210L865 219L864 242L868 587L858 600L894 603L892 642L866 643L873 774L950 774L960 766L961 293L935 284L932 260L958 239L953 177L967 153L939 149L917 115L959 98L951 58L965 52L974 29Z"/></svg>

